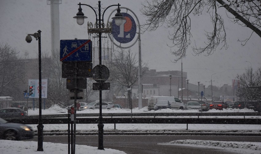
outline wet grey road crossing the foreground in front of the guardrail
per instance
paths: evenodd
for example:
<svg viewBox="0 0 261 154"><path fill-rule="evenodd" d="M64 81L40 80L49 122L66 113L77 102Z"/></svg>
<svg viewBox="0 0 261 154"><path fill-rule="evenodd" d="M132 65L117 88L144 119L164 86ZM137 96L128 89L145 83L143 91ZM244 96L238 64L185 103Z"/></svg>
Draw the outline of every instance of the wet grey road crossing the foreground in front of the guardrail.
<svg viewBox="0 0 261 154"><path fill-rule="evenodd" d="M184 144L170 144L172 141L180 140L206 140L210 143L214 141L218 143L223 143L225 141L232 142L261 142L261 137L257 136L200 136L200 135L105 135L104 136L104 148L117 149L124 151L127 154L235 154L235 153L252 153L245 152L241 148L229 148L227 146L218 147L218 146L204 146L191 145L184 146ZM37 141L37 138L27 141ZM67 136L45 136L44 142L53 142L53 143L63 143L66 144ZM217 144L215 142L215 144ZM158 144L158 143L168 143L168 144ZM187 142L188 143L188 142ZM98 146L98 136L87 135L87 136L76 136L77 145L89 145L89 146ZM252 150L251 150L252 151ZM256 151L256 150L254 150Z"/></svg>

